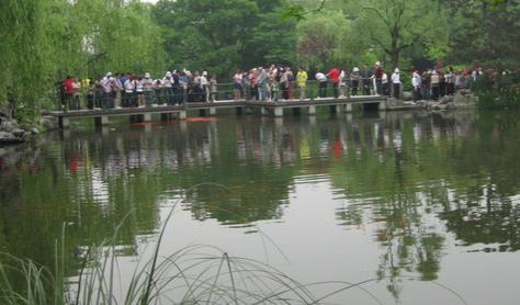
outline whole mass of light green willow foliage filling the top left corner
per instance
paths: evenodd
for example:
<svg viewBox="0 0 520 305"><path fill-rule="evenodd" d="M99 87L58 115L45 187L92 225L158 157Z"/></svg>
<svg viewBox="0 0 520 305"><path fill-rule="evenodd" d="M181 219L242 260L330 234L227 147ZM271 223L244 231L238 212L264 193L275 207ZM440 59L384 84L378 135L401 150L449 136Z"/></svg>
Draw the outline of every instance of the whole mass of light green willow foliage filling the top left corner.
<svg viewBox="0 0 520 305"><path fill-rule="evenodd" d="M26 127L67 75L162 66L160 33L140 1L5 0L0 20L0 104L10 99Z"/></svg>

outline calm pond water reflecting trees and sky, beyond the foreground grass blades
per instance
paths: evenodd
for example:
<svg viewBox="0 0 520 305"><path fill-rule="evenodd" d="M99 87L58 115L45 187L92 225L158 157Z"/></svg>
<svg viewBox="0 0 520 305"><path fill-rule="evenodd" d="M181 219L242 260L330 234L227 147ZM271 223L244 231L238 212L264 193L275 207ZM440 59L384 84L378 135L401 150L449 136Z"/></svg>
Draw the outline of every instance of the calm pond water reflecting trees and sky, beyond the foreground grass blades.
<svg viewBox="0 0 520 305"><path fill-rule="evenodd" d="M303 283L374 279L383 304L520 302L516 113L86 125L1 157L2 251L52 267L64 234L75 276L80 249L132 211L124 279L178 204L163 255L212 245ZM207 182L225 189L190 189ZM360 290L335 302L377 304Z"/></svg>

